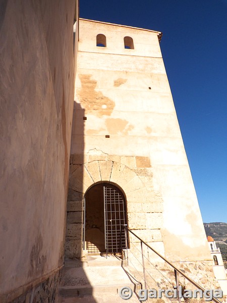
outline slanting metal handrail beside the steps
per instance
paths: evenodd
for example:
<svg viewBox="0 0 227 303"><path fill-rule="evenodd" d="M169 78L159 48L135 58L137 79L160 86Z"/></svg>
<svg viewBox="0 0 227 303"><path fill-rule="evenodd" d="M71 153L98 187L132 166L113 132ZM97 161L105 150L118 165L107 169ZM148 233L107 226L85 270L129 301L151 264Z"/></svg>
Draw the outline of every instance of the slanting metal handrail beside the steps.
<svg viewBox="0 0 227 303"><path fill-rule="evenodd" d="M198 289L202 290L202 292L204 293L205 289L200 286L198 283L196 283L194 280L192 280L189 276L187 276L183 271L181 271L179 268L177 268L173 263L169 262L167 259L165 259L165 257L161 256L159 254L159 252L157 252L154 248L152 248L150 245L148 245L145 241L143 241L140 237L138 237L133 231L131 231L127 226L125 225L121 225L123 228L125 228L125 230L128 230L129 232L131 232L136 238L138 238L141 241L141 245L142 243L145 244L147 247L149 247L153 252L155 252L156 255L158 255L162 260L164 260L168 265L170 265L171 267L174 268L175 270L175 277L176 277L176 282L178 284L178 277L177 277L177 272L179 274L181 274L183 277L185 277L189 282L191 282L194 286L196 286ZM127 241L126 241L127 243ZM128 246L127 246L128 249ZM142 250L143 251L143 250ZM145 281L146 284L146 281ZM178 286L178 285L177 285ZM211 299L212 301L216 302L216 303L222 303L220 300L218 300L217 298L213 298Z"/></svg>

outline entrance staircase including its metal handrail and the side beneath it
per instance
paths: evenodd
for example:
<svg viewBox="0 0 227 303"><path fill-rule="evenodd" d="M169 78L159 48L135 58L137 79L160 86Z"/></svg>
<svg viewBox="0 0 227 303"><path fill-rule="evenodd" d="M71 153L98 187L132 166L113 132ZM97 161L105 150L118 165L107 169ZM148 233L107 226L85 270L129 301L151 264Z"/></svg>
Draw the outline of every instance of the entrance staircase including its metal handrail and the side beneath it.
<svg viewBox="0 0 227 303"><path fill-rule="evenodd" d="M139 300L139 296L141 296L140 289L152 290L156 288L158 288L158 292L159 290L164 291L175 288L175 297L169 297L167 291L166 297L162 297L161 294L160 296L158 295L158 298L149 297L150 302L164 303L171 301L173 303L180 303L206 301L202 297L197 299L181 298L181 295L179 295L179 293L181 294L181 287L189 287L186 287L186 290L201 290L202 294L205 294L206 290L188 276L185 270L177 268L173 263L161 256L159 252L140 239L133 231L126 226L123 227L140 241L141 250L138 248L138 241L131 239L131 245L132 247L134 245L135 249L126 250L127 261L123 261L115 256L107 256L106 258L102 256L88 256L86 262L66 260L63 279L59 289L59 297L56 303L123 303L126 301L120 296L120 290L124 286L128 286L132 290L132 296L129 298L130 303L138 303L146 299L141 297L141 300ZM151 262L153 260L153 253L160 258L161 262L156 262L156 264ZM126 262L127 264L124 264ZM142 290L142 292L145 293L145 290ZM221 303L224 300L212 297L212 301Z"/></svg>

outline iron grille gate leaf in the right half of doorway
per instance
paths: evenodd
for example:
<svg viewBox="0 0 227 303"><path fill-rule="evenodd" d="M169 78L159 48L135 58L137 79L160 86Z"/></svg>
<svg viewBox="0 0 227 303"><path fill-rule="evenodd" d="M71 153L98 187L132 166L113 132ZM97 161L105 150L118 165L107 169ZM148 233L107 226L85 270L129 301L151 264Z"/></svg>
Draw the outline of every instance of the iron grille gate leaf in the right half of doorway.
<svg viewBox="0 0 227 303"><path fill-rule="evenodd" d="M127 224L125 199L113 185L104 185L103 193L105 250L107 254L121 252L121 248L126 248L125 231L121 229Z"/></svg>

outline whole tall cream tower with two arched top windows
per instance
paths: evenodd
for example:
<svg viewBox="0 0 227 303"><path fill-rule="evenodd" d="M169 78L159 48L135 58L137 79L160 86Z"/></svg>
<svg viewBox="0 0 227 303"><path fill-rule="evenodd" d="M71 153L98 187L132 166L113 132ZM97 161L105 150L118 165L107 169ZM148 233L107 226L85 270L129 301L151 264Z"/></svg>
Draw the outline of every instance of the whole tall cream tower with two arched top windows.
<svg viewBox="0 0 227 303"><path fill-rule="evenodd" d="M118 252L127 224L169 261L212 266L161 33L79 26L66 257Z"/></svg>

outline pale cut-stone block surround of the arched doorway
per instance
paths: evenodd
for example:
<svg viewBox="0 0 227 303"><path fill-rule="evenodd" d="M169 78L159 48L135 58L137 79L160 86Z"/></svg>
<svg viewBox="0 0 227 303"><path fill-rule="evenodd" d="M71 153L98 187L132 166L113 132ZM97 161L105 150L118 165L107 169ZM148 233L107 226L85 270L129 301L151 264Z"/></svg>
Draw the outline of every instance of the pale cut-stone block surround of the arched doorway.
<svg viewBox="0 0 227 303"><path fill-rule="evenodd" d="M95 157L103 158L103 155ZM86 255L83 247L84 195L98 183L116 185L124 192L129 229L136 230L138 236L152 242L154 248L164 254L160 232L162 198L153 190L152 169L131 169L121 162L96 159L84 164L72 163L70 167L65 256L81 258ZM133 243L131 239L129 241ZM134 246L138 245L136 241Z"/></svg>

